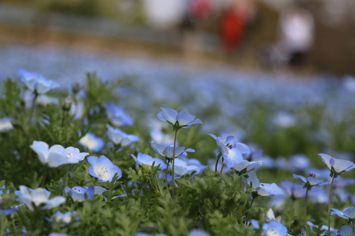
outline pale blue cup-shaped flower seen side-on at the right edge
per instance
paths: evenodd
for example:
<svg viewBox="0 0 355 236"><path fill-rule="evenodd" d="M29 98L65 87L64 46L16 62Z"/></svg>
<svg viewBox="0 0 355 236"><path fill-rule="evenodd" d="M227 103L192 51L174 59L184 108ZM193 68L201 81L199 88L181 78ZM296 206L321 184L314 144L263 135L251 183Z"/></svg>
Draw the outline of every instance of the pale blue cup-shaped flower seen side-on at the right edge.
<svg viewBox="0 0 355 236"><path fill-rule="evenodd" d="M355 168L355 165L346 160L335 159L328 154L318 154L322 157L322 161L327 165L328 169L330 170L330 176L334 178L338 177L338 175L346 172L351 171Z"/></svg>

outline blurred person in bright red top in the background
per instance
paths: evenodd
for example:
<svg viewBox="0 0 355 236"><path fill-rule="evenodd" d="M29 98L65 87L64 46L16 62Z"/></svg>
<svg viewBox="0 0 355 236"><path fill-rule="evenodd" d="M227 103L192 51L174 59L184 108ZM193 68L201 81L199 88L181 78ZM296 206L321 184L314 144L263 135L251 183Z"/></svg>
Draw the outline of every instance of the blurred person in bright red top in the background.
<svg viewBox="0 0 355 236"><path fill-rule="evenodd" d="M255 17L256 4L252 0L232 0L221 17L222 47L231 54L243 43L248 22Z"/></svg>

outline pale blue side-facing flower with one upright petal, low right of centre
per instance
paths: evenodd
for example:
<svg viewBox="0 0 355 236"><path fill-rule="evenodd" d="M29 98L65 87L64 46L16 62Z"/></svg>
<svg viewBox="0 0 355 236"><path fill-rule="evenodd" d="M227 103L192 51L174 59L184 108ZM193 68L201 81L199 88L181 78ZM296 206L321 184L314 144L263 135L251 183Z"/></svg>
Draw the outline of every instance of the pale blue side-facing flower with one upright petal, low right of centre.
<svg viewBox="0 0 355 236"><path fill-rule="evenodd" d="M255 170L251 170L248 175L249 177L244 177L244 180L249 187L255 189L253 198L257 198L258 196L274 196L283 194L282 189L275 183L260 183Z"/></svg>

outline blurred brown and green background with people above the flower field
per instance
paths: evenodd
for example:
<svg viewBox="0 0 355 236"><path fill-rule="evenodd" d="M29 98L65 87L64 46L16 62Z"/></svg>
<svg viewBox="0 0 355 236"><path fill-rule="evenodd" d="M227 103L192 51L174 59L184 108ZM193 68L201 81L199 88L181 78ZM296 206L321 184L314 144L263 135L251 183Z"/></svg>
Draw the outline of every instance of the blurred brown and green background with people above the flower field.
<svg viewBox="0 0 355 236"><path fill-rule="evenodd" d="M353 0L0 1L2 64L8 61L4 54L21 54L13 47L59 47L77 54L342 77L355 75L354 42Z"/></svg>

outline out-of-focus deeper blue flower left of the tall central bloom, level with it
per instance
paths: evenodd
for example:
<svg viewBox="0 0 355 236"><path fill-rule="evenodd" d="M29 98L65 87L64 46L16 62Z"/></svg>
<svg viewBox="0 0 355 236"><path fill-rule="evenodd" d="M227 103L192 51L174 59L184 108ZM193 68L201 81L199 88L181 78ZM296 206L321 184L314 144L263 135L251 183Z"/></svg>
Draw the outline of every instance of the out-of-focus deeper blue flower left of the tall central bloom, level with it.
<svg viewBox="0 0 355 236"><path fill-rule="evenodd" d="M107 116L114 126L132 126L133 119L114 102L110 102L106 106Z"/></svg>

